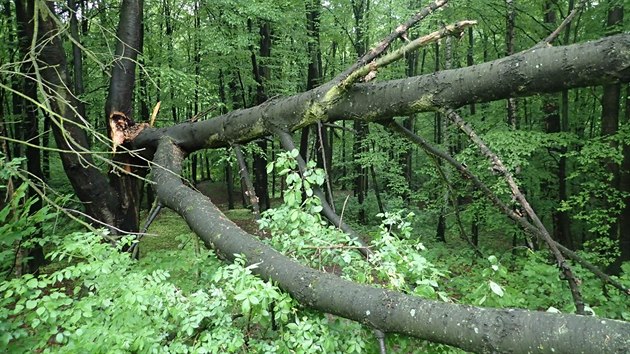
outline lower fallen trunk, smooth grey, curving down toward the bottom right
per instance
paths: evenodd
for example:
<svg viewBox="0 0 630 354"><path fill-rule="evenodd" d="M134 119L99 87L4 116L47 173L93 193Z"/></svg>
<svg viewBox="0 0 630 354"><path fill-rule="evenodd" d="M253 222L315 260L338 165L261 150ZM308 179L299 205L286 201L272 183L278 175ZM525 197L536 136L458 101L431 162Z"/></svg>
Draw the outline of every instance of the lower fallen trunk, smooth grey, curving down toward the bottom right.
<svg viewBox="0 0 630 354"><path fill-rule="evenodd" d="M264 279L272 279L313 309L475 352L622 353L630 348L630 323L571 314L488 309L450 304L356 284L305 267L228 220L209 198L182 183L186 151L162 137L153 170L157 194L179 213L207 247L231 261L243 254Z"/></svg>

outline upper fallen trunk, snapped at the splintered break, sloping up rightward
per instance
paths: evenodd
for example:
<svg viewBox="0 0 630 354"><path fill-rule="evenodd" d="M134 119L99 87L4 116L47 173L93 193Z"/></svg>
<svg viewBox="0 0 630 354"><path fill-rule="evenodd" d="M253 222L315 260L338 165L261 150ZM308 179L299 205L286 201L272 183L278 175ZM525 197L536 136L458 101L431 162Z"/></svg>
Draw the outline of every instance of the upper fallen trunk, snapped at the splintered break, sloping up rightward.
<svg viewBox="0 0 630 354"><path fill-rule="evenodd" d="M429 75L357 84L326 102L334 83L210 120L145 129L135 147L155 148L163 135L186 152L246 143L273 131L321 121L383 121L395 116L457 108L516 96L630 81L630 34L563 47L533 49L491 62Z"/></svg>

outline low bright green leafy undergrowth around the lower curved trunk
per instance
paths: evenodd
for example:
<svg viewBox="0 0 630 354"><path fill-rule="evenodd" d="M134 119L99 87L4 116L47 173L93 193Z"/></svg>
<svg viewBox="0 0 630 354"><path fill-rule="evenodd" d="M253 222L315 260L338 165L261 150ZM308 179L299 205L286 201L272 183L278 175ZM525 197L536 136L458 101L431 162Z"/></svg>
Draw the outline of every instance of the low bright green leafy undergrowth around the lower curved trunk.
<svg viewBox="0 0 630 354"><path fill-rule="evenodd" d="M364 259L356 240L321 218L312 186L323 182L323 172L310 164L299 173L296 155L281 154L270 165L284 176L287 189L282 204L259 221L266 232L262 241L279 252L355 282L435 301L575 311L566 281L545 252L512 254L507 248L488 247L480 257L452 232L448 243L435 241L422 227L423 216L409 210L380 213L374 226L362 229L374 252ZM20 205L29 203L16 201L10 207ZM257 232L249 210L225 213L250 233ZM51 220L56 219L42 219L42 225ZM11 230L20 230L20 225ZM26 229L16 237L29 239L36 231ZM254 276L258 265L247 265L242 257L233 264L219 260L171 210L163 209L140 241L139 261L119 251L133 240L111 247L102 242L102 233L46 235L41 242L54 266L38 276L0 282L0 352L378 351L370 328L301 306L273 282ZM6 258L10 253L3 254ZM630 283L628 268L618 278L624 284ZM630 319L625 295L580 267L575 272L589 311ZM387 335L387 347L404 353L461 352L394 334Z"/></svg>

